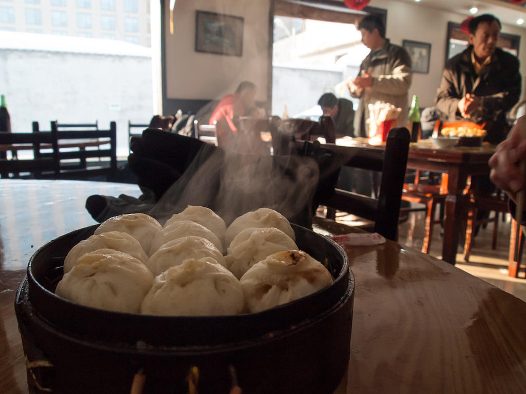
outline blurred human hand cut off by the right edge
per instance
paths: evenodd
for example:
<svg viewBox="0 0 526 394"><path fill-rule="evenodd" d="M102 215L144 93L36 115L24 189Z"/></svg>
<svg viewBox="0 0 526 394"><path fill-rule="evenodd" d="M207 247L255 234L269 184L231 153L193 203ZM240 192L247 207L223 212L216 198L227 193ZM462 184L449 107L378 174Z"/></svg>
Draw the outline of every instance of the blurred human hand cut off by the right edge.
<svg viewBox="0 0 526 394"><path fill-rule="evenodd" d="M490 179L498 188L507 192L512 199L515 193L524 188L524 174L520 163L526 160L526 116L517 120L508 138L497 146L488 164L491 167Z"/></svg>

